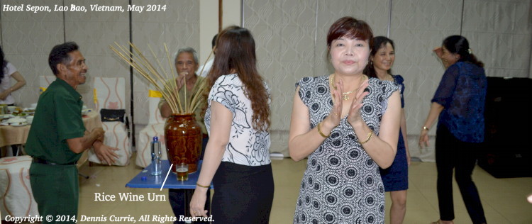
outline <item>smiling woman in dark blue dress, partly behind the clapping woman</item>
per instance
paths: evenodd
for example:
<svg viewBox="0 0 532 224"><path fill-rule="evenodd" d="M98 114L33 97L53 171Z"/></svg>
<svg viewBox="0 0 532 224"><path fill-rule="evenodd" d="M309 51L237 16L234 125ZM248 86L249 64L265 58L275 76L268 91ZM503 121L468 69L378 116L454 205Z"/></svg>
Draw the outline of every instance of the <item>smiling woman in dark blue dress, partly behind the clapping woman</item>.
<svg viewBox="0 0 532 224"><path fill-rule="evenodd" d="M401 75L392 74L392 65L395 61L394 41L379 36L373 38L373 45L364 73L368 77L395 82L401 86L401 128L397 142L397 154L394 163L387 169L379 169L384 191L389 191L392 198L392 207L389 211L390 223L403 223L406 213L406 190L409 189L410 152L406 138L406 118L404 117L404 79Z"/></svg>

